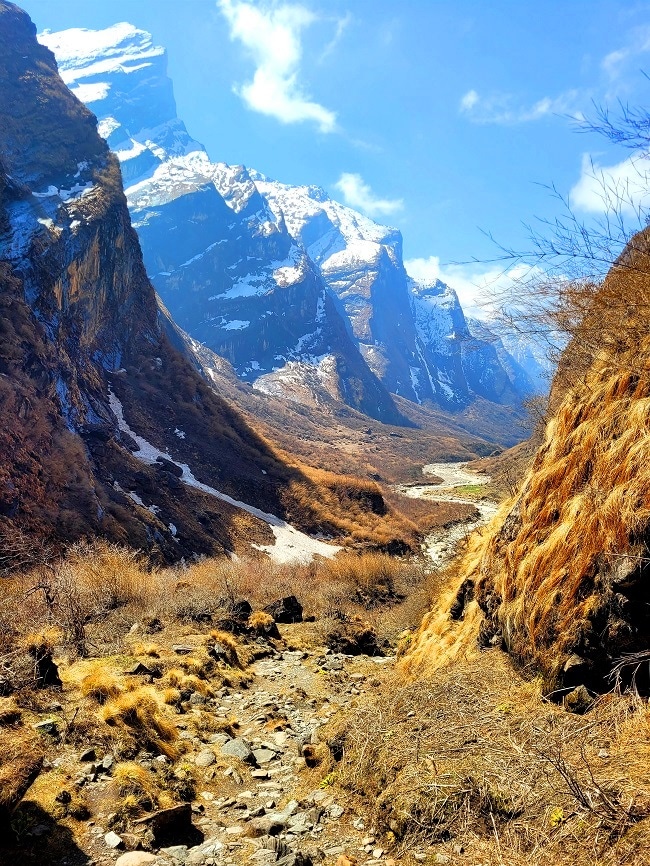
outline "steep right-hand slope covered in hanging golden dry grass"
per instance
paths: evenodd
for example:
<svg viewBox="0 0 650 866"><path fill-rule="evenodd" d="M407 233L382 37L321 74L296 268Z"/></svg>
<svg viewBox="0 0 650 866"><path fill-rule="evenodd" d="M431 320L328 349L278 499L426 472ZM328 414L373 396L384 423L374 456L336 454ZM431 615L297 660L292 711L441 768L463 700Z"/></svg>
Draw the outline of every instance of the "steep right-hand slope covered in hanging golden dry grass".
<svg viewBox="0 0 650 866"><path fill-rule="evenodd" d="M461 566L456 622L444 604L432 614L411 667L437 666L478 632L556 696L617 676L650 687L649 275L646 230L575 329L532 466Z"/></svg>

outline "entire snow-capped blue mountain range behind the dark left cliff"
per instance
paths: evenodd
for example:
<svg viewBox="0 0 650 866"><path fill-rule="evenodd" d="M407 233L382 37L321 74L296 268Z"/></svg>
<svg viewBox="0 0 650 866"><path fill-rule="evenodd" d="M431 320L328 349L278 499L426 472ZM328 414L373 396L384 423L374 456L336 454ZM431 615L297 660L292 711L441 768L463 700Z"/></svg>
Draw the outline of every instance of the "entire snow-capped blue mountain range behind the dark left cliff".
<svg viewBox="0 0 650 866"><path fill-rule="evenodd" d="M402 237L329 198L214 163L176 116L163 48L130 24L45 33L120 160L152 282L195 340L267 393L298 380L380 420L390 397L516 406L534 386L455 292L418 284ZM290 385L290 387L288 387Z"/></svg>

